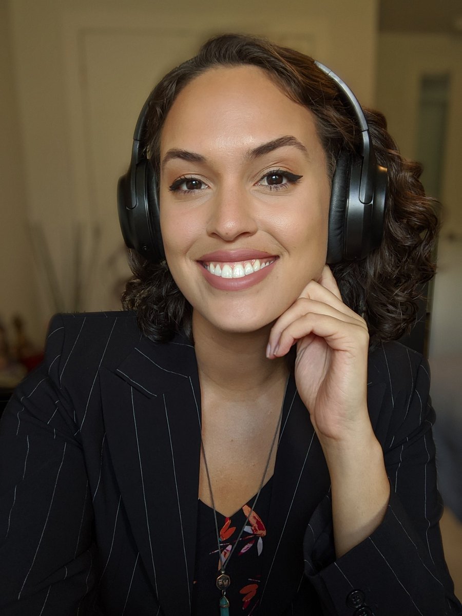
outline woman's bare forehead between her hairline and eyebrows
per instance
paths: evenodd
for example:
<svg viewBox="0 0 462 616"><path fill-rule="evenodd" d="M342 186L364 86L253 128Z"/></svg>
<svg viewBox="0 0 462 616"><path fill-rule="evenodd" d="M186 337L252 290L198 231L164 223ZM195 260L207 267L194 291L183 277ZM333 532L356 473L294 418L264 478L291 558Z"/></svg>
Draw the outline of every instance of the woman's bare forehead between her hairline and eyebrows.
<svg viewBox="0 0 462 616"><path fill-rule="evenodd" d="M320 147L314 114L291 100L264 70L212 68L177 96L164 121L161 153L171 147L195 152L212 145L254 147L282 135L294 135L310 149Z"/></svg>

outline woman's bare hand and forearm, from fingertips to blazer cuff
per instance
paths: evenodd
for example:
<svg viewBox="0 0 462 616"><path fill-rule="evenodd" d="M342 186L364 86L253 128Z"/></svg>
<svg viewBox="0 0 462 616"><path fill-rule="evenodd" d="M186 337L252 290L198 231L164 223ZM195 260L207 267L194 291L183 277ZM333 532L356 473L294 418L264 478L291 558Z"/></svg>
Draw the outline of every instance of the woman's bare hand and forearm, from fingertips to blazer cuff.
<svg viewBox="0 0 462 616"><path fill-rule="evenodd" d="M368 342L364 319L342 302L327 266L278 318L269 339L268 357L297 344L297 389L329 469L338 557L378 527L390 493L367 411Z"/></svg>

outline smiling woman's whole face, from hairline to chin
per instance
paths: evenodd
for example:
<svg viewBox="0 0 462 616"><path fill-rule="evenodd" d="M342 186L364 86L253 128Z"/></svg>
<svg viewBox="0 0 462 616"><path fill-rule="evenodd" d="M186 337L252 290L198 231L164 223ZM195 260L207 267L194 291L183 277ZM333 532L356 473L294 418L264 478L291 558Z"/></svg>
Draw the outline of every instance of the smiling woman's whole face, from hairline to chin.
<svg viewBox="0 0 462 616"><path fill-rule="evenodd" d="M326 155L314 115L264 71L195 78L166 117L160 160L166 259L195 322L259 330L320 277Z"/></svg>

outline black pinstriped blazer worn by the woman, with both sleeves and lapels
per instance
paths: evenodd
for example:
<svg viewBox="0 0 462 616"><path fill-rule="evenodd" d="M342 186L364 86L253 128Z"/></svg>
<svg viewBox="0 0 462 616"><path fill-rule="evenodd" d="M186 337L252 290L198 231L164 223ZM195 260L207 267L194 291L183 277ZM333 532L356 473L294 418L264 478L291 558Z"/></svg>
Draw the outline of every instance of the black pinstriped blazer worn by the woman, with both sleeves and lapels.
<svg viewBox="0 0 462 616"><path fill-rule="evenodd" d="M334 559L328 471L291 381L254 614L460 613L437 526L426 364L386 344L368 380L392 485L385 520ZM150 342L129 312L55 317L46 362L1 422L0 614L190 614L199 456L187 339Z"/></svg>

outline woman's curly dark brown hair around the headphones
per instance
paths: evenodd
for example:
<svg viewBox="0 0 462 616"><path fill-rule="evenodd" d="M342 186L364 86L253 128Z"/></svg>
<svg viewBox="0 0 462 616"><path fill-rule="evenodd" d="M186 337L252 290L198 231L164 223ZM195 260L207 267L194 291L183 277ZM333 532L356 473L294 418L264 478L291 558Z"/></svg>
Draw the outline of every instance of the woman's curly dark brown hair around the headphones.
<svg viewBox="0 0 462 616"><path fill-rule="evenodd" d="M161 131L176 96L210 68L240 65L262 68L290 99L314 113L331 176L339 153L355 152L357 120L336 84L312 58L265 39L224 34L210 39L195 57L174 68L153 89L145 144L157 176ZM364 112L377 161L388 169L383 241L364 259L341 262L332 271L344 302L365 318L375 346L400 338L415 322L421 289L434 275L432 251L438 218L437 202L425 196L419 182L419 164L400 155L381 113ZM153 264L135 251L130 251L129 261L133 275L122 302L125 309L136 310L140 330L162 342L180 329L192 336L192 307L166 262Z"/></svg>

